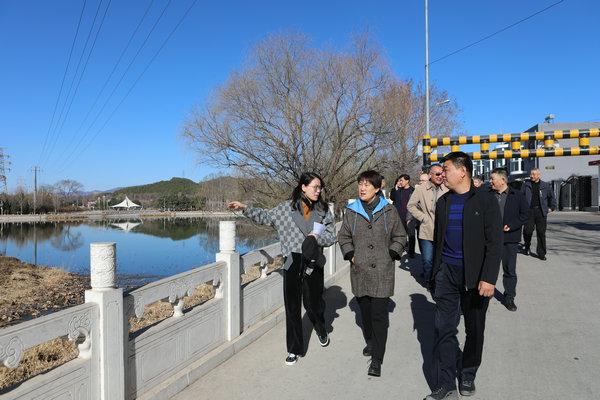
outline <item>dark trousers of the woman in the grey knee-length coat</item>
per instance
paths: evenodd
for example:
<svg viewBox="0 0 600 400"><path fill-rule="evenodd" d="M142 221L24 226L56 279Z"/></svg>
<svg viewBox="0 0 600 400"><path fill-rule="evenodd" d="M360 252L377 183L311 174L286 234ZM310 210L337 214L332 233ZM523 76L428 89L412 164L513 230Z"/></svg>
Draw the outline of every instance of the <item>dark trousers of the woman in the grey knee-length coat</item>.
<svg viewBox="0 0 600 400"><path fill-rule="evenodd" d="M357 297L363 325L363 334L367 342L373 344L372 358L383 362L387 331L390 326L389 297Z"/></svg>

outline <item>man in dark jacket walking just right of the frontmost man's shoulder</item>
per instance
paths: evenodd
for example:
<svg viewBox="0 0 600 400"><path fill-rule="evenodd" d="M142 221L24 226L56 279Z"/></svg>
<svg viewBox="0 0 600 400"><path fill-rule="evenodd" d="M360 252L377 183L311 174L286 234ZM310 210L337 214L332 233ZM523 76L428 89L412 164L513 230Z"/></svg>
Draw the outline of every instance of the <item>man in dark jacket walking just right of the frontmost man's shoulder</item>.
<svg viewBox="0 0 600 400"><path fill-rule="evenodd" d="M508 173L504 168L492 171L490 186L498 200L504 230L504 247L502 249L502 283L504 299L502 304L509 311L517 311L515 296L517 295L517 249L521 241L521 226L529 219L529 206L523 192L508 186Z"/></svg>

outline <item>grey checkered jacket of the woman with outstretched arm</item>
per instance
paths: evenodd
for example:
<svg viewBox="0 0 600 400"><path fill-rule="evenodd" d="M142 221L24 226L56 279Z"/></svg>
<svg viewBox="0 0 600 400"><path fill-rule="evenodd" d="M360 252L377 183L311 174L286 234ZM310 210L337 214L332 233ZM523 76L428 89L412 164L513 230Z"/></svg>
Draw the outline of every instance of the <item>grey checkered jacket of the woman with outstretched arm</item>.
<svg viewBox="0 0 600 400"><path fill-rule="evenodd" d="M292 201L279 203L271 210L248 206L244 215L261 225L271 225L277 229L281 242L281 254L285 257L283 268L289 269L292 265L291 253L302 253L302 242L312 233L315 222L325 225L325 232L317 235L317 244L320 247L331 246L335 243L335 220L331 209L328 212L314 209L308 221L304 219L302 208L300 211L292 208ZM320 265L320 267L323 267Z"/></svg>

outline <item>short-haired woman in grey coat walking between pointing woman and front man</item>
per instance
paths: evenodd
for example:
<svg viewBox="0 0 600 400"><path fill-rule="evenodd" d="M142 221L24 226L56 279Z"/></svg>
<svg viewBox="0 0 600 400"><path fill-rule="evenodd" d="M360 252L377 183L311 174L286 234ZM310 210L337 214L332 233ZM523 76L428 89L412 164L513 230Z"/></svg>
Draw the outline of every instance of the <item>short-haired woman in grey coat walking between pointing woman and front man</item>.
<svg viewBox="0 0 600 400"><path fill-rule="evenodd" d="M358 176L359 200L347 206L338 243L350 260L352 294L360 308L363 355L371 357L368 374L381 376L389 326L388 304L394 294L394 260L404 251L406 234L395 208L378 195L381 175Z"/></svg>

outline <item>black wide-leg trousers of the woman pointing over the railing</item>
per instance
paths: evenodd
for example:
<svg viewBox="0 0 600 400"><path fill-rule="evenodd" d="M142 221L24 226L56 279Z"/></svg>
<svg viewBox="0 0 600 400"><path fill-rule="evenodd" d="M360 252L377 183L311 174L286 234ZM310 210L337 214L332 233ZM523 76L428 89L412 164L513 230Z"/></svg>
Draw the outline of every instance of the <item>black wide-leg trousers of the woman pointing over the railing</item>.
<svg viewBox="0 0 600 400"><path fill-rule="evenodd" d="M323 269L315 268L303 277L302 254L292 253L292 265L283 271L283 301L285 305L285 336L288 353L304 354L302 332L302 301L306 314L320 336L325 328L325 300L323 300Z"/></svg>

